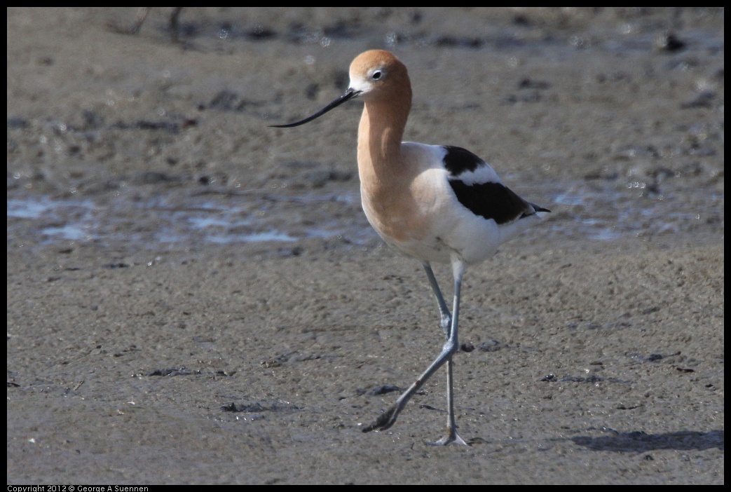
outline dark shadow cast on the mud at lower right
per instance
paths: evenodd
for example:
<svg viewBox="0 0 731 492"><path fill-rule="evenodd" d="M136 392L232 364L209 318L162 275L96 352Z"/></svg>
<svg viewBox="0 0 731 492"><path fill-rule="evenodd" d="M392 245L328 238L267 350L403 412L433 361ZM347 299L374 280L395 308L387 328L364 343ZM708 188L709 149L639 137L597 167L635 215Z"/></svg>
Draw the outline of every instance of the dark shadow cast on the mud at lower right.
<svg viewBox="0 0 731 492"><path fill-rule="evenodd" d="M666 434L646 434L643 431L623 432L610 436L577 436L569 440L594 451L629 451L644 453L652 450L724 450L724 431L681 431Z"/></svg>

